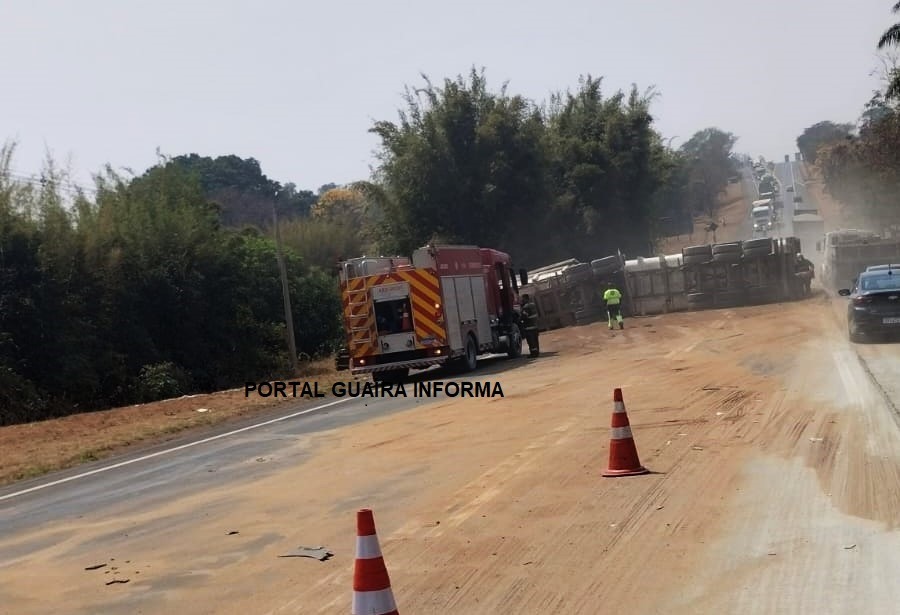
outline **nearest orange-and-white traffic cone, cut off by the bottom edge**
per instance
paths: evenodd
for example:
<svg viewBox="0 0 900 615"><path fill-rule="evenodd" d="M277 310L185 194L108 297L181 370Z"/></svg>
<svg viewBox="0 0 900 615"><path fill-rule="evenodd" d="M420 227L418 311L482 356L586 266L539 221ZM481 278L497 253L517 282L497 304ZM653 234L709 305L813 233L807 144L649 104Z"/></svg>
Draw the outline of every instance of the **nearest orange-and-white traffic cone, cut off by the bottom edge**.
<svg viewBox="0 0 900 615"><path fill-rule="evenodd" d="M356 513L356 561L353 564L353 615L398 615L375 519L368 508Z"/></svg>

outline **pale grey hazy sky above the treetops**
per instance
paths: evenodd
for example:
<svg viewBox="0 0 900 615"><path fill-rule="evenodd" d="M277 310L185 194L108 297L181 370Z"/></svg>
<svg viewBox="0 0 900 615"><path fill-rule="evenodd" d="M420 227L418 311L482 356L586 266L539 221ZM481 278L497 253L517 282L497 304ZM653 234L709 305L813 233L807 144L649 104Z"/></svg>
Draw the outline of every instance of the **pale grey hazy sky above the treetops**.
<svg viewBox="0 0 900 615"><path fill-rule="evenodd" d="M541 101L603 76L655 86L657 129L717 126L781 158L820 120L856 121L894 0L2 0L0 140L79 182L104 164L237 154L316 189L369 175L374 120L405 84L485 67Z"/></svg>

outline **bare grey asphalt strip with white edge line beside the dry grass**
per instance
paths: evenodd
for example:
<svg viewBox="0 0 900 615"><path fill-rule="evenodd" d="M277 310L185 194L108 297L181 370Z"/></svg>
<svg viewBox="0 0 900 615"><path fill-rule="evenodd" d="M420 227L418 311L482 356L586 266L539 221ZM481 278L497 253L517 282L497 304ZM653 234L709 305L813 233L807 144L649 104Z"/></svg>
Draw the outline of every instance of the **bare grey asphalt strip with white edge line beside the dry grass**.
<svg viewBox="0 0 900 615"><path fill-rule="evenodd" d="M479 359L479 369L467 377L440 371L420 373L413 381L501 382L499 372L523 366L527 359ZM201 437L169 442L137 454L82 465L40 479L0 489L0 531L8 534L51 521L78 518L106 508L146 510L180 495L260 478L285 464L302 463L279 454L302 436L387 416L414 406L445 400L440 397L344 397L321 402L298 401L277 414L243 425L220 428ZM9 555L9 554L6 554Z"/></svg>

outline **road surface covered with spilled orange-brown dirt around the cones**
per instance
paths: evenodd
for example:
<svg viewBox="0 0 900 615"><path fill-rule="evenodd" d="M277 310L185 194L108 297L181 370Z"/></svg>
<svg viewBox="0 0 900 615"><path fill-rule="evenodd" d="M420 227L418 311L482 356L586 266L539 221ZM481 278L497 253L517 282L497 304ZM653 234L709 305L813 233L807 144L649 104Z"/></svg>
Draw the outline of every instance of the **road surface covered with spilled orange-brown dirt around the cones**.
<svg viewBox="0 0 900 615"><path fill-rule="evenodd" d="M894 613L900 355L841 309L563 329L485 377L504 398L348 402L4 500L0 612L347 613L370 507L400 612ZM615 387L651 474L600 475Z"/></svg>

